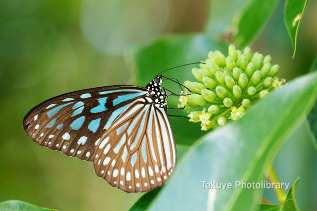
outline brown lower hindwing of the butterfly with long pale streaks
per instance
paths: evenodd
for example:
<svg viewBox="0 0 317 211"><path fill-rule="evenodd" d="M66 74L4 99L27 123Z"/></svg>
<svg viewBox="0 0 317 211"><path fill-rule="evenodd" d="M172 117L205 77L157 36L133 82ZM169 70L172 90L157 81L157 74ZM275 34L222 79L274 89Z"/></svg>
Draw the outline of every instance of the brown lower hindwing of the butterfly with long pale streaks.
<svg viewBox="0 0 317 211"><path fill-rule="evenodd" d="M176 149L167 113L138 98L101 137L95 172L124 192L145 192L163 185L176 165Z"/></svg>

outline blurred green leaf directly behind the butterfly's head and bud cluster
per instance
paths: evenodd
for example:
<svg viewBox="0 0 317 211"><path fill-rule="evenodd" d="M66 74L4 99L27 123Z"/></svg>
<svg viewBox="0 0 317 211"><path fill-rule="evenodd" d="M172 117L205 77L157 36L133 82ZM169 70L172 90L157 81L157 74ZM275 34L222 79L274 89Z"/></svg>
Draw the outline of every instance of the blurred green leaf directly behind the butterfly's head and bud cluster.
<svg viewBox="0 0 317 211"><path fill-rule="evenodd" d="M135 48L134 53L127 59L136 72L136 83L145 86L162 70L205 60L208 52L216 49L225 52L228 46L204 34L170 35L161 37L149 45ZM164 72L163 75L169 78L176 77L180 83L189 79L195 80L191 73L193 67L195 65L172 69ZM164 86L176 93L181 91L179 85L173 82L164 81ZM177 107L178 102L178 97L171 96L168 99L169 107ZM185 111L180 110L174 113L169 111L169 113L187 116ZM199 130L199 124L192 125L184 118L170 117L169 119L176 143L191 145L204 134ZM196 132L193 133L193 130Z"/></svg>

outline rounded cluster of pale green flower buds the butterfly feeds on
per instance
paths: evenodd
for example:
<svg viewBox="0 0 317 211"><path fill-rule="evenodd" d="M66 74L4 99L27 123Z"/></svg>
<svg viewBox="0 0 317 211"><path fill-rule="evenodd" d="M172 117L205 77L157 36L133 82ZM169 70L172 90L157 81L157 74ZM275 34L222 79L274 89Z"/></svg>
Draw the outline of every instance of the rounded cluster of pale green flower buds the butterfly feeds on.
<svg viewBox="0 0 317 211"><path fill-rule="evenodd" d="M285 82L276 77L280 66L271 64L270 55L252 55L250 47L242 52L234 45L229 46L228 55L210 51L204 64L192 69L198 82L184 82L190 91L182 92L178 106L185 107L189 121L200 122L202 130L216 123L224 126L228 119L240 119L255 100L265 98ZM192 111L200 106L204 106L203 110Z"/></svg>

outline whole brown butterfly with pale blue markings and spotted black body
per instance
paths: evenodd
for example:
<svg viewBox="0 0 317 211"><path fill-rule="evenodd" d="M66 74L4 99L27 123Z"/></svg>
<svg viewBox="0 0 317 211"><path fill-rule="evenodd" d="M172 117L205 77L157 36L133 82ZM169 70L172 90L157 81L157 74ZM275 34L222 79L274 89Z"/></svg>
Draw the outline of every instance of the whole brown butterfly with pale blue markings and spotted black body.
<svg viewBox="0 0 317 211"><path fill-rule="evenodd" d="M162 76L145 88L85 89L48 99L23 119L36 143L93 162L95 173L124 192L166 183L177 154Z"/></svg>

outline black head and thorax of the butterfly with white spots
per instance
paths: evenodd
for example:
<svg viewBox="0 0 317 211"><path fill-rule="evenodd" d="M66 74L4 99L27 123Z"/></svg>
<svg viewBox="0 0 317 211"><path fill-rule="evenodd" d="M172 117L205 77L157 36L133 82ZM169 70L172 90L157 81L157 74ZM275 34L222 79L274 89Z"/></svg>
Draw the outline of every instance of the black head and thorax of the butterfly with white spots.
<svg viewBox="0 0 317 211"><path fill-rule="evenodd" d="M149 91L149 95L146 98L149 103L152 103L156 106L164 106L166 102L166 94L162 90L162 77L156 76L150 83L146 85L146 88Z"/></svg>

